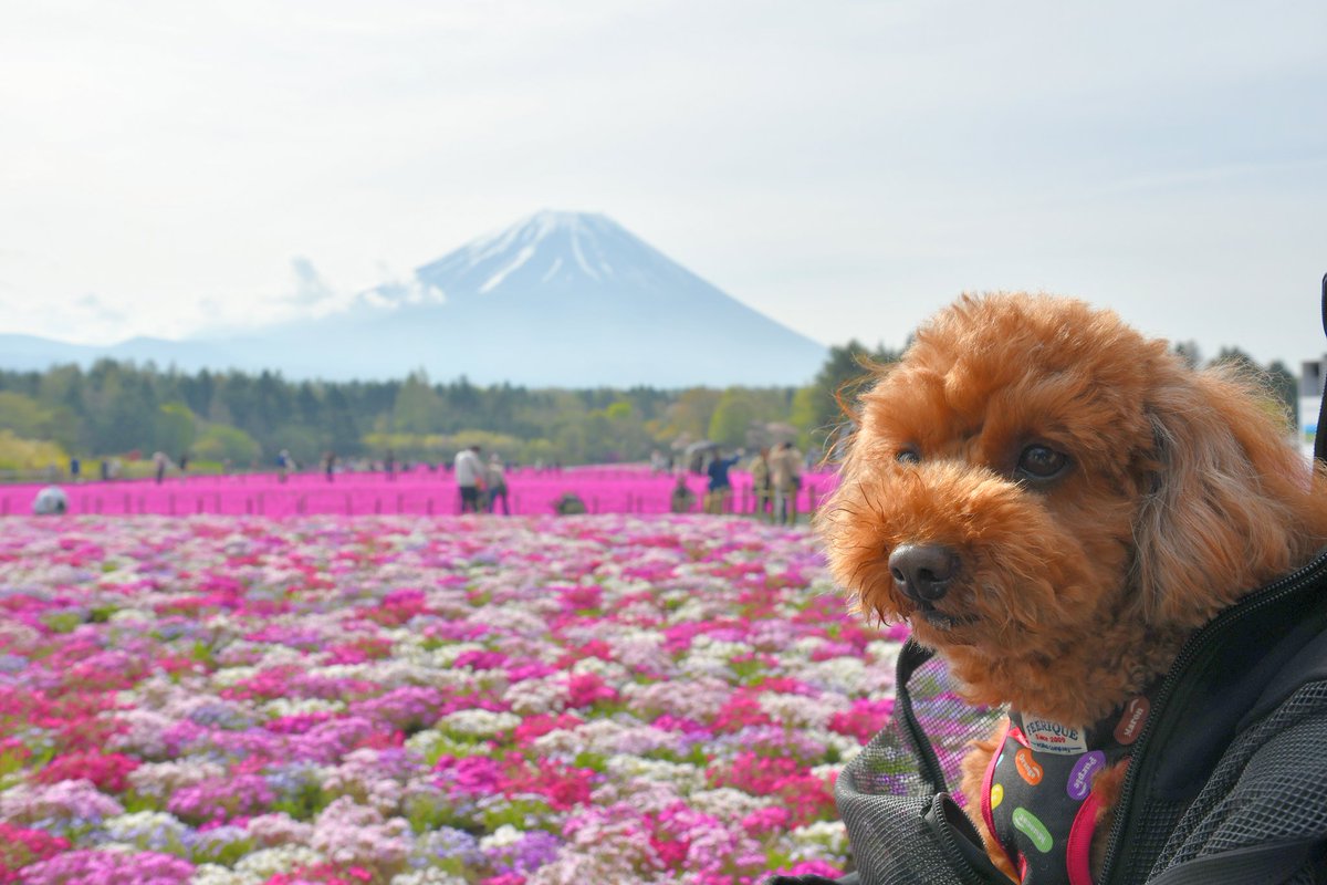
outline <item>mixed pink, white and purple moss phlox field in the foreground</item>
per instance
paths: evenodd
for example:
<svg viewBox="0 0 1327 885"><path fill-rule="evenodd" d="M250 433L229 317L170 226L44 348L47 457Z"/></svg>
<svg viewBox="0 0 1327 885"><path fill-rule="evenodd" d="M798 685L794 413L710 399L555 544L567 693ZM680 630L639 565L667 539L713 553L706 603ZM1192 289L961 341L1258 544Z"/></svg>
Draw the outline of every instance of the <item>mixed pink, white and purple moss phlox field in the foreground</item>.
<svg viewBox="0 0 1327 885"><path fill-rule="evenodd" d="M0 884L835 876L892 715L804 528L12 517Z"/></svg>

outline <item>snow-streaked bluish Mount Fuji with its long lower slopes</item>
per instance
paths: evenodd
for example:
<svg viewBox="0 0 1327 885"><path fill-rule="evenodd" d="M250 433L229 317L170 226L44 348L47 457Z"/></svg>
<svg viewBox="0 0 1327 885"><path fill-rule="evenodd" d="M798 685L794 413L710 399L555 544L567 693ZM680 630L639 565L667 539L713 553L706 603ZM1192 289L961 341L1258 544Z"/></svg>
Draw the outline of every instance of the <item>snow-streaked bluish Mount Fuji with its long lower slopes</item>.
<svg viewBox="0 0 1327 885"><path fill-rule="evenodd" d="M12 341L11 341L12 338ZM808 382L825 348L721 292L604 215L544 211L361 292L320 318L245 334L73 348L0 336L0 365L109 356L183 370L531 387ZM21 345L21 346L20 346Z"/></svg>

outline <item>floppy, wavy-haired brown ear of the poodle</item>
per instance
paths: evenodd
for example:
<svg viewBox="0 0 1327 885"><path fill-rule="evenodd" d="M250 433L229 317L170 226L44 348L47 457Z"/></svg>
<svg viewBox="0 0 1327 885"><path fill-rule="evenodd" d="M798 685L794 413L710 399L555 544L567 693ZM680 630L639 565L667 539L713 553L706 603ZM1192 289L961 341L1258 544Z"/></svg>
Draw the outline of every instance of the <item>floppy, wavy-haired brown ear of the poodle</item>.
<svg viewBox="0 0 1327 885"><path fill-rule="evenodd" d="M1233 370L1164 361L1157 377L1136 581L1148 622L1194 628L1306 559L1323 507L1274 398Z"/></svg>

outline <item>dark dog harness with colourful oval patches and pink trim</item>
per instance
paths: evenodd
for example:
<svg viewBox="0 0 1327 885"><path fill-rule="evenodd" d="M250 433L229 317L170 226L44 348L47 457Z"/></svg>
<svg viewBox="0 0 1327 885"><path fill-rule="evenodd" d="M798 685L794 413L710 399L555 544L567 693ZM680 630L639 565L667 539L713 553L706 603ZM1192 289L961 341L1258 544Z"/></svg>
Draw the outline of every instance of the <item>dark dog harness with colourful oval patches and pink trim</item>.
<svg viewBox="0 0 1327 885"><path fill-rule="evenodd" d="M982 817L1023 885L1092 885L1101 804L1092 780L1129 758L1148 707L1139 695L1087 731L1010 713L1003 744L986 767Z"/></svg>

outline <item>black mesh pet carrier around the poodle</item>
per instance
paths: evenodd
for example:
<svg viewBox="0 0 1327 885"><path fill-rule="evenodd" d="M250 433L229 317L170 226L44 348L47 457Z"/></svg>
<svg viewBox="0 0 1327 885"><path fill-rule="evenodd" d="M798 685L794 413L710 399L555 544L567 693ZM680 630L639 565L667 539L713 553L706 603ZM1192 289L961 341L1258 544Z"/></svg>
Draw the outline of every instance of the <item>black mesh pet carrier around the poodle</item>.
<svg viewBox="0 0 1327 885"><path fill-rule="evenodd" d="M837 885L1007 885L959 791L1005 711L965 703L912 641L897 685L892 723L839 776L856 870ZM1327 885L1327 552L1198 632L1154 694L1095 885L1144 882Z"/></svg>

